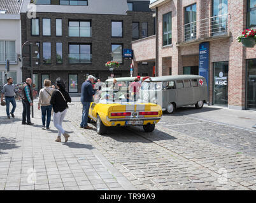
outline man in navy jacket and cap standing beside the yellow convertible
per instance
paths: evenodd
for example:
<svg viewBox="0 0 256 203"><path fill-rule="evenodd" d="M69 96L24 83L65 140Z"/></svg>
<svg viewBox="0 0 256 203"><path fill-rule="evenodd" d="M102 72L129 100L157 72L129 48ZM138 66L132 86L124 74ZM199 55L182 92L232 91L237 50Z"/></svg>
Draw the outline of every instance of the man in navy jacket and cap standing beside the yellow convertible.
<svg viewBox="0 0 256 203"><path fill-rule="evenodd" d="M92 96L98 91L93 91L92 84L96 80L96 78L92 75L89 75L87 81L83 82L81 89L81 98L80 101L83 105L83 114L82 114L82 122L80 124L80 128L84 129L92 129L92 127L88 126L88 114L90 103L93 101Z"/></svg>

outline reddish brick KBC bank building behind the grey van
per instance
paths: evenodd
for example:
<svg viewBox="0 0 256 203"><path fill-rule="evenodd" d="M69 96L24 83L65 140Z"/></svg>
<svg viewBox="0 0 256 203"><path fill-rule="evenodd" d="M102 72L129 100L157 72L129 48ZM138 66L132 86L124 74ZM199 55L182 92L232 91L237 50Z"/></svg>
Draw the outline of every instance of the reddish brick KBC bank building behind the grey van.
<svg viewBox="0 0 256 203"><path fill-rule="evenodd" d="M256 47L236 41L256 27L255 0L157 0L150 8L156 34L132 42L135 69L153 61L157 75L204 75L210 105L256 109Z"/></svg>

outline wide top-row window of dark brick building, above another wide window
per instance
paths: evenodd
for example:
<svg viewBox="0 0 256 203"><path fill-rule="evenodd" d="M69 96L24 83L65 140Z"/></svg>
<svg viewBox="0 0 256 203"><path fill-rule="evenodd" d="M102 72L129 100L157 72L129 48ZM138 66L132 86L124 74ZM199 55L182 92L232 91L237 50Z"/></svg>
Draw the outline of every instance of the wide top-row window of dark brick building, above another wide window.
<svg viewBox="0 0 256 203"><path fill-rule="evenodd" d="M90 21L69 21L69 37L91 37Z"/></svg>

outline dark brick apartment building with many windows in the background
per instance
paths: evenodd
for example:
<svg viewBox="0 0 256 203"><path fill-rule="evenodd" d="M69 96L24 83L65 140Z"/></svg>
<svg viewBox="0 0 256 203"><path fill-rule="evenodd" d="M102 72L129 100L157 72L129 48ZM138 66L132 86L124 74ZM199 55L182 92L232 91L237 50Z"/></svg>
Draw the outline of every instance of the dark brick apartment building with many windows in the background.
<svg viewBox="0 0 256 203"><path fill-rule="evenodd" d="M105 63L120 62L115 77L130 75L131 60L123 57L131 41L153 35L150 1L127 0L34 0L24 1L21 11L22 43L39 46L39 65L33 67L37 88L49 78L64 79L70 93L79 93L92 74L104 81L111 75ZM31 13L34 9L36 12ZM32 18L31 18L32 16ZM140 75L149 75L153 63L139 65ZM23 79L30 77L29 65Z"/></svg>

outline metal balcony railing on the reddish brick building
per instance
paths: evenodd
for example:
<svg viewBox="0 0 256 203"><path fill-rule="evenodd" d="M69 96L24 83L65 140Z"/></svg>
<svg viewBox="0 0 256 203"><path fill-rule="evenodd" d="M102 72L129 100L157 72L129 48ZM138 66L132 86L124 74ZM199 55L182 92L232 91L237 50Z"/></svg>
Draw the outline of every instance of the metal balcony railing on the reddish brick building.
<svg viewBox="0 0 256 203"><path fill-rule="evenodd" d="M178 29L178 36L181 36L178 39L178 43L187 43L214 36L225 36L230 30L229 25L229 14L187 23Z"/></svg>

